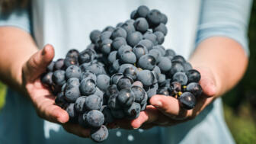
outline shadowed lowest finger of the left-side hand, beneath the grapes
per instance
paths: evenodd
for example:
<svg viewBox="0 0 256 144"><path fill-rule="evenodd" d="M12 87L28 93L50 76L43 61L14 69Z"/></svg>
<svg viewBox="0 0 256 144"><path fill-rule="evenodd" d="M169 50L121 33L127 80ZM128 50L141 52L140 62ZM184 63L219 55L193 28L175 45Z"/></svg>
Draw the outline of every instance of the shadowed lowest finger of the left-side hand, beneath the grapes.
<svg viewBox="0 0 256 144"><path fill-rule="evenodd" d="M62 125L63 128L72 134L75 134L76 136L80 136L80 137L89 137L90 136L90 130L89 129L85 129L82 126L75 124L75 123L65 123Z"/></svg>

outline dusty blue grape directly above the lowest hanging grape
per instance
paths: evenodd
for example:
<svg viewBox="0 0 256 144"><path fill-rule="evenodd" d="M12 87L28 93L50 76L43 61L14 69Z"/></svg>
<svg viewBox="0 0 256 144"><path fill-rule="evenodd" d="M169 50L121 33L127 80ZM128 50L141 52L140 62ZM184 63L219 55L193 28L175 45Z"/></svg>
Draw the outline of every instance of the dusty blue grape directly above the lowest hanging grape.
<svg viewBox="0 0 256 144"><path fill-rule="evenodd" d="M91 127L100 127L104 123L104 115L100 110L91 110L86 114L86 122Z"/></svg>

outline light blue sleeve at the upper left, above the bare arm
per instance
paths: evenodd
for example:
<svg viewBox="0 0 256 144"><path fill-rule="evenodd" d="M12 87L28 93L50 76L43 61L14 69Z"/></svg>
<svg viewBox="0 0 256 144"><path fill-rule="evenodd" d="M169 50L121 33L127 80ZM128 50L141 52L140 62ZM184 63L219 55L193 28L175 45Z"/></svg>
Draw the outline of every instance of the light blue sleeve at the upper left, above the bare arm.
<svg viewBox="0 0 256 144"><path fill-rule="evenodd" d="M16 9L6 14L0 12L0 27L4 26L18 27L31 34L29 9Z"/></svg>

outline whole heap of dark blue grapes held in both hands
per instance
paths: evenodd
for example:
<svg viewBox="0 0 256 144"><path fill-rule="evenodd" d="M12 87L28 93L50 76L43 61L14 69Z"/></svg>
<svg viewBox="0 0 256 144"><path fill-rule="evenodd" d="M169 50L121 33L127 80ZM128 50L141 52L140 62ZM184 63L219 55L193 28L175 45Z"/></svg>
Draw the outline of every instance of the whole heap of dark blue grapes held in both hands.
<svg viewBox="0 0 256 144"><path fill-rule="evenodd" d="M116 27L93 30L85 50L69 50L65 59L51 62L41 78L70 122L91 129L95 142L107 139L107 123L139 117L155 94L178 98L189 110L203 92L200 72L162 46L166 15L142 5L130 18Z"/></svg>

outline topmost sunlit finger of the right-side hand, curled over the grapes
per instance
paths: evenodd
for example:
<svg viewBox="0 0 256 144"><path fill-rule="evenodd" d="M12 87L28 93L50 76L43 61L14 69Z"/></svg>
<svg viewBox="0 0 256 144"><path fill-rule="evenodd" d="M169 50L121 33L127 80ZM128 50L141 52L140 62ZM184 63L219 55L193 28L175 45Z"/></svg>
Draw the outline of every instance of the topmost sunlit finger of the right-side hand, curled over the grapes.
<svg viewBox="0 0 256 144"><path fill-rule="evenodd" d="M190 115L189 110L180 107L178 99L170 96L154 95L149 103L174 120L184 120Z"/></svg>

